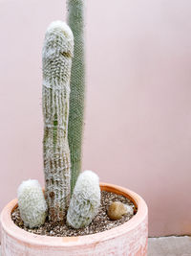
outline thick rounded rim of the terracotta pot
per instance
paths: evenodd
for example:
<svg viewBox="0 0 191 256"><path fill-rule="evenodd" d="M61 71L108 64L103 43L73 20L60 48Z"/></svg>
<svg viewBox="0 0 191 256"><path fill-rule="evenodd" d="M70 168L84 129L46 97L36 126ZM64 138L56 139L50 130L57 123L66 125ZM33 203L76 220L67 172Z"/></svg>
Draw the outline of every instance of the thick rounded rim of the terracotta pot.
<svg viewBox="0 0 191 256"><path fill-rule="evenodd" d="M78 237L51 237L51 236L41 236L30 233L19 228L12 220L11 220L11 212L17 206L17 198L11 200L1 213L1 224L2 228L12 237L16 238L20 244L32 244L36 246L83 246L86 244L95 244L100 241L106 241L115 239L116 237L122 236L123 234L130 232L135 229L142 221L147 218L148 208L143 200L137 193L128 190L126 188L109 184L109 183L100 183L101 190L114 192L119 195L123 195L126 198L130 198L138 207L137 214L130 220L117 227L114 227L110 230L106 230L100 233L78 236Z"/></svg>

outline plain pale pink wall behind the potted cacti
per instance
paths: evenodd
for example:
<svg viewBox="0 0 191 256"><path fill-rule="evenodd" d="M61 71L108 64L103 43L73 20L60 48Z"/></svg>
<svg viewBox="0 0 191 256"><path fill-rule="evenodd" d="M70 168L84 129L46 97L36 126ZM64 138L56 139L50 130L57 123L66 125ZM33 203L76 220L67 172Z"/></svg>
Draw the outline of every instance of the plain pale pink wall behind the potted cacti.
<svg viewBox="0 0 191 256"><path fill-rule="evenodd" d="M55 3L56 2L56 3ZM0 209L43 184L41 47L61 0L0 0ZM87 1L84 169L149 206L150 236L191 234L191 1Z"/></svg>

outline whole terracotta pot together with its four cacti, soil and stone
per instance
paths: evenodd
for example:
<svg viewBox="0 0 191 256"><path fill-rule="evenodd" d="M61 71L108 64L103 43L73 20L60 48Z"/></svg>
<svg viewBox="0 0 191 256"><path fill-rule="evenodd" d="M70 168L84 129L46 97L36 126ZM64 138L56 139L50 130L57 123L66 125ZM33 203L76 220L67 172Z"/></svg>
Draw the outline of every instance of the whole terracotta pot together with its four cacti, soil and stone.
<svg viewBox="0 0 191 256"><path fill-rule="evenodd" d="M80 174L84 2L68 0L67 5L68 25L54 21L48 27L42 53L45 190L37 180L21 183L18 199L1 213L1 253L147 255L148 211L144 200L128 189L99 183L92 171Z"/></svg>

